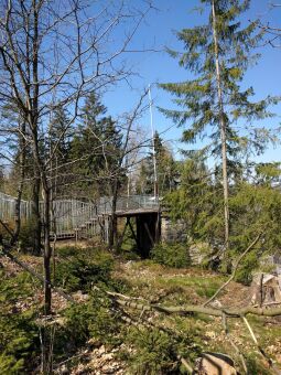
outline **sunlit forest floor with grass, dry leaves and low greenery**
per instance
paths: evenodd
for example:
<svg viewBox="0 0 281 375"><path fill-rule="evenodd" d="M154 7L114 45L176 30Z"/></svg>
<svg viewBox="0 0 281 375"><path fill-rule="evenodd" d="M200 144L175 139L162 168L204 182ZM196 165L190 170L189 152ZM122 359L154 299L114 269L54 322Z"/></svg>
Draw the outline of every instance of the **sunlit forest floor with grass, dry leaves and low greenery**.
<svg viewBox="0 0 281 375"><path fill-rule="evenodd" d="M42 271L42 258L17 256ZM53 271L57 286L73 296L76 302L69 307L63 297L54 293L54 315L52 323L46 323L42 318L40 282L7 258L0 260L0 339L2 343L9 342L10 346L14 342L19 347L19 335L25 340L21 350L17 346L17 350L10 347L7 351L0 344L0 371L3 374L40 372L41 349L36 334L42 322L46 324L45 330L47 326L52 331L52 363L56 374L184 373L176 363L176 351L191 364L202 352L225 353L242 373L240 357L226 336L220 318L166 315L139 311L130 303L120 308L106 294L108 291L118 292L129 296L134 302L167 307L202 304L226 281L227 278L220 274L201 268L170 268L152 260L128 260L128 257L112 256L105 250L62 248L57 250ZM242 307L249 303L250 298L250 287L230 282L215 303ZM22 321L19 322L17 317L28 320L25 325L32 326L35 339L23 331ZM281 367L281 319L250 315L249 323L267 355ZM236 346L245 355L249 374L271 374L242 320L229 319L228 329ZM14 336L11 336L11 330Z"/></svg>

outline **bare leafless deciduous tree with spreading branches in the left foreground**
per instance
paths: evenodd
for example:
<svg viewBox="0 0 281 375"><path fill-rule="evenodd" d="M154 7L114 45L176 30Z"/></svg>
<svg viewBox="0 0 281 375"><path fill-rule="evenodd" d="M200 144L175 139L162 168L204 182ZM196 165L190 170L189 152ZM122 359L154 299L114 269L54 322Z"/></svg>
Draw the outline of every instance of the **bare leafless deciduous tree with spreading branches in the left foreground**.
<svg viewBox="0 0 281 375"><path fill-rule="evenodd" d="M130 71L122 55L151 9L130 9L123 1L2 0L0 3L0 99L12 104L26 127L34 161L33 201L36 246L44 232L45 313L51 313L52 161L64 133L75 121L83 98ZM143 8L143 7L142 7ZM122 33L125 23L127 32ZM69 119L52 152L42 152L50 115L60 106ZM40 192L44 210L40 214Z"/></svg>

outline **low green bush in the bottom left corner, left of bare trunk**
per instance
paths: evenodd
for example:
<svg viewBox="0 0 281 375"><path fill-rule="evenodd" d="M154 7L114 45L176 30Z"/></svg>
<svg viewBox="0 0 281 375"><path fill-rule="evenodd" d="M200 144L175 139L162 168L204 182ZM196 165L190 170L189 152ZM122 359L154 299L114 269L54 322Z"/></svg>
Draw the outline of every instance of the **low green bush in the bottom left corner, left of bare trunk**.
<svg viewBox="0 0 281 375"><path fill-rule="evenodd" d="M14 277L0 271L0 374L28 373L40 352L39 330L33 310L17 309L17 301L32 294L26 272Z"/></svg>

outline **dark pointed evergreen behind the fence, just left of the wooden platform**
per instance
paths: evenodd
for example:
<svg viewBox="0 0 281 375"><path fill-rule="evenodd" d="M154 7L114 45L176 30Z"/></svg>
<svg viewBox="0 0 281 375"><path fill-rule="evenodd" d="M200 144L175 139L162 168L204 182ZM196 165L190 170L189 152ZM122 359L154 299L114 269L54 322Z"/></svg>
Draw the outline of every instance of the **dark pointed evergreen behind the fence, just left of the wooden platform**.
<svg viewBox="0 0 281 375"><path fill-rule="evenodd" d="M71 142L72 159L77 160L74 174L80 176L79 186L91 196L110 195L110 183L120 172L117 168L122 135L106 111L96 94L91 93L86 98L78 131Z"/></svg>

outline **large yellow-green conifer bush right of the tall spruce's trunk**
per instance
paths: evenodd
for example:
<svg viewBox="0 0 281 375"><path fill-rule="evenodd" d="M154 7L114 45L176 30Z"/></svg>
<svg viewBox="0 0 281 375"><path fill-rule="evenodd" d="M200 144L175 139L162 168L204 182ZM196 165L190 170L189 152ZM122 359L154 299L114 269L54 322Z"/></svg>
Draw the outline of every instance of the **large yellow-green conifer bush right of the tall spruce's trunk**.
<svg viewBox="0 0 281 375"><path fill-rule="evenodd" d="M281 194L267 184L240 183L229 200L229 207L233 216L230 258L237 258L260 234L236 276L237 281L249 283L262 256L280 254Z"/></svg>

